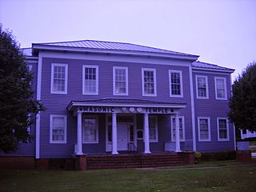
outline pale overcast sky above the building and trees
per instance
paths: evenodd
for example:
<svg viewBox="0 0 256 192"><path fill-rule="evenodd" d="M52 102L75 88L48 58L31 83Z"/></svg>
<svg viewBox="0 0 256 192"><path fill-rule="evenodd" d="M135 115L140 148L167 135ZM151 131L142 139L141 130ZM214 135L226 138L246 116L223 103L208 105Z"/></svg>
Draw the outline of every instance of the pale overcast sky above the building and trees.
<svg viewBox="0 0 256 192"><path fill-rule="evenodd" d="M256 62L256 0L0 0L0 23L36 42L130 42L235 69Z"/></svg>

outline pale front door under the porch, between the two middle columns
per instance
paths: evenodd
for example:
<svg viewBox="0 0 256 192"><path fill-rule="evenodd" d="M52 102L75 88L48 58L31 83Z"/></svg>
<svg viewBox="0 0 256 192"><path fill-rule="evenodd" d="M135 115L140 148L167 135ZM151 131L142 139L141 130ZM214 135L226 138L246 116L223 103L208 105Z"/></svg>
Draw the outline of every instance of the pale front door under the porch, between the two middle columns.
<svg viewBox="0 0 256 192"><path fill-rule="evenodd" d="M127 123L118 123L118 150L128 150Z"/></svg>

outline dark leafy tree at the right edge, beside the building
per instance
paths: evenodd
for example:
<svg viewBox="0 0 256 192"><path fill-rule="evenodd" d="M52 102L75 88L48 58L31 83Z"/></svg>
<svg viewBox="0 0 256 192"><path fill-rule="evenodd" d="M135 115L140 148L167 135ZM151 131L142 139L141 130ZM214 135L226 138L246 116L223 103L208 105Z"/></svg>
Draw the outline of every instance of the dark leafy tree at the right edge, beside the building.
<svg viewBox="0 0 256 192"><path fill-rule="evenodd" d="M232 86L230 98L231 122L237 130L256 130L256 62L250 63Z"/></svg>

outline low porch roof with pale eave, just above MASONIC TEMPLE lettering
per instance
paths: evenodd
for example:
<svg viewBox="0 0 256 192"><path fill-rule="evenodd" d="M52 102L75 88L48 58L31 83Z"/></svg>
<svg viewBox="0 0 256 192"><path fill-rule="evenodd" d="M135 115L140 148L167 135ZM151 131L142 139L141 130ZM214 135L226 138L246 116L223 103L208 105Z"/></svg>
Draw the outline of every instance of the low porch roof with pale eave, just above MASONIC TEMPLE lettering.
<svg viewBox="0 0 256 192"><path fill-rule="evenodd" d="M118 99L118 98L103 98L84 101L71 101L66 107L67 110L72 111L78 106L128 106L128 107L166 107L173 109L182 109L186 107L186 103L179 102L155 102L142 99Z"/></svg>

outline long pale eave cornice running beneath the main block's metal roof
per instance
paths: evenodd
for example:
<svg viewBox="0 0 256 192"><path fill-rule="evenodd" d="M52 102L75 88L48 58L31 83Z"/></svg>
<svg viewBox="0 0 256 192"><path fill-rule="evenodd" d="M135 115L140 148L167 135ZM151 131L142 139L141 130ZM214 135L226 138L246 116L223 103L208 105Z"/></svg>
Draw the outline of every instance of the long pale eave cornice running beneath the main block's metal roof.
<svg viewBox="0 0 256 192"><path fill-rule="evenodd" d="M33 53L39 50L55 50L55 51L71 51L71 52L80 52L86 54L118 54L118 55L133 55L139 57L154 57L154 58L176 58L182 60L196 61L198 55L192 54L165 54L165 53L152 53L147 51L139 50L107 50L107 49L94 49L94 48L85 48L85 47L70 47L70 46L49 46L42 45L38 43L32 44Z"/></svg>

